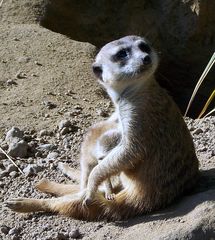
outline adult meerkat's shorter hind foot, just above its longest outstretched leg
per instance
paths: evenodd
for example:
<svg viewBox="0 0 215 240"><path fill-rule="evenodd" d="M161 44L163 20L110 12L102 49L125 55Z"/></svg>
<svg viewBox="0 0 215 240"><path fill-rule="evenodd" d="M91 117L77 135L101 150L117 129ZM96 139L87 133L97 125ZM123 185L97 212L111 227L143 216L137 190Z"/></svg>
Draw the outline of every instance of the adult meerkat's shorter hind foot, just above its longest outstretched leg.
<svg viewBox="0 0 215 240"><path fill-rule="evenodd" d="M61 184L47 179L42 179L36 184L36 188L44 193L50 193L55 196L64 196L67 194L77 193L79 186L74 184Z"/></svg>

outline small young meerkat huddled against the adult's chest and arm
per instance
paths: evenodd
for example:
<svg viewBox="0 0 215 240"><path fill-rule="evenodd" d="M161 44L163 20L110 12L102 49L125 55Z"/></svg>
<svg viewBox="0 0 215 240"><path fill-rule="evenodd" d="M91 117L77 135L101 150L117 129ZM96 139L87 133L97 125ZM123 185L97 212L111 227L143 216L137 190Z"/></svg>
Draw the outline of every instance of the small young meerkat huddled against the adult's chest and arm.
<svg viewBox="0 0 215 240"><path fill-rule="evenodd" d="M87 179L92 169L119 144L121 134L117 127L118 120L116 114L113 114L108 120L99 122L88 130L81 147L81 174L78 170L69 167L68 164L58 163L58 168L64 175L80 182L80 190L87 187ZM115 185L116 180L112 181ZM100 187L100 190L104 192L105 197L109 200L114 198L114 186L112 185L111 179L107 179L104 181L103 186Z"/></svg>

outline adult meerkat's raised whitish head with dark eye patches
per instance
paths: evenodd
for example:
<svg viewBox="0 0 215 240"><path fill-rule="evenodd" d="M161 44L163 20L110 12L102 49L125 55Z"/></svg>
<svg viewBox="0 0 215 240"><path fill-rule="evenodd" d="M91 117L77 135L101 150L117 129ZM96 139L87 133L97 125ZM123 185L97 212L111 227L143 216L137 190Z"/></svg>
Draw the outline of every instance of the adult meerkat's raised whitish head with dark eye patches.
<svg viewBox="0 0 215 240"><path fill-rule="evenodd" d="M158 56L139 36L127 36L106 44L97 54L93 72L106 88L124 89L149 79L158 65Z"/></svg>

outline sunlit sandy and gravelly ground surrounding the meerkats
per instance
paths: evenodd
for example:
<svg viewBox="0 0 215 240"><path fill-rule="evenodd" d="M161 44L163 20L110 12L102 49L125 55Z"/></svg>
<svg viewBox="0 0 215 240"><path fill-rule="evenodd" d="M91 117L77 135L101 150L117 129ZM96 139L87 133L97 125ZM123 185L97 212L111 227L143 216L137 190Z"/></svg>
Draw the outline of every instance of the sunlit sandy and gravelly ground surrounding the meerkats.
<svg viewBox="0 0 215 240"><path fill-rule="evenodd" d="M112 105L91 74L96 49L72 41L35 24L0 26L0 144L17 126L37 147L52 144L58 155L48 159L29 154L16 160L23 170L41 166L32 176L8 172L0 177L1 203L14 197L45 197L34 184L47 177L68 182L56 169L59 161L79 168L78 155L84 132L109 115ZM74 130L62 135L57 126L70 119ZM202 169L196 192L169 208L122 222L84 222L52 214L16 214L0 208L1 239L215 239L215 117L187 119ZM41 130L52 132L41 137ZM10 165L0 160L1 173ZM16 171L15 171L16 172ZM77 230L79 229L79 230Z"/></svg>

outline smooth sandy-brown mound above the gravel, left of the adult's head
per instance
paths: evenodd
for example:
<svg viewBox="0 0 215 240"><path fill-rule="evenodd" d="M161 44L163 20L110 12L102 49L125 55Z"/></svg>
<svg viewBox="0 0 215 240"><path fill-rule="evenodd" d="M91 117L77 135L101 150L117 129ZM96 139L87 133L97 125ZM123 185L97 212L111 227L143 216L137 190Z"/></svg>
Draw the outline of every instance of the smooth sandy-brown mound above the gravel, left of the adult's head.
<svg viewBox="0 0 215 240"><path fill-rule="evenodd" d="M99 86L91 74L93 45L36 24L2 24L0 31L0 126L52 130L77 105L95 108ZM8 79L16 85L8 86Z"/></svg>

